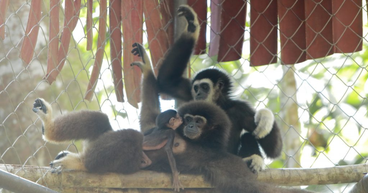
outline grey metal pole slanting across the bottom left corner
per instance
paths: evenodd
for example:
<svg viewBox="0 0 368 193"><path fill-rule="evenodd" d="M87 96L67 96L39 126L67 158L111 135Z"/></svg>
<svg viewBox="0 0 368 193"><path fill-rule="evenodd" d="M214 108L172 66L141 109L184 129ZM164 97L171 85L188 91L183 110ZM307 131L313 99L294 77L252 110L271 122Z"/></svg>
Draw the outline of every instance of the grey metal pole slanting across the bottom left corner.
<svg viewBox="0 0 368 193"><path fill-rule="evenodd" d="M27 179L16 176L0 169L0 188L15 193L57 193L45 186L41 186Z"/></svg>

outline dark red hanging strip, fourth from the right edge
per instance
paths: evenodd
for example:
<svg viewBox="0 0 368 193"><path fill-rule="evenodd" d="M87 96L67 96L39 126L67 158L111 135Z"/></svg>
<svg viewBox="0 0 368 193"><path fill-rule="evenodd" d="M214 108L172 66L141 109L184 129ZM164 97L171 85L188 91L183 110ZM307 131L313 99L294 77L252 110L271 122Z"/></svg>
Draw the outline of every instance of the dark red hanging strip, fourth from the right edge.
<svg viewBox="0 0 368 193"><path fill-rule="evenodd" d="M251 0L251 66L277 62L277 1Z"/></svg>

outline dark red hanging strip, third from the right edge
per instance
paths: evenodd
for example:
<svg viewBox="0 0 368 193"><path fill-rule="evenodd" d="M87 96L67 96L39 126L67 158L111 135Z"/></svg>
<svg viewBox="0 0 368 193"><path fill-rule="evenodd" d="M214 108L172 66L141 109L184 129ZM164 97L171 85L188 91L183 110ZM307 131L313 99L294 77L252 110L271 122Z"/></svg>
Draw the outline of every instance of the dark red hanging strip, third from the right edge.
<svg viewBox="0 0 368 193"><path fill-rule="evenodd" d="M281 64L304 62L305 12L304 0L279 0Z"/></svg>

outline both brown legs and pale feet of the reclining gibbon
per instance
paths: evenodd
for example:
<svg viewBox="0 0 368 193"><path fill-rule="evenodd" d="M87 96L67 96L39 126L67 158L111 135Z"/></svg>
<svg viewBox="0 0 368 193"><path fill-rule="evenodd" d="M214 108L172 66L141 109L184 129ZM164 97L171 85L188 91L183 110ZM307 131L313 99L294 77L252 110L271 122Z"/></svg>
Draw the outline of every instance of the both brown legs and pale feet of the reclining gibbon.
<svg viewBox="0 0 368 193"><path fill-rule="evenodd" d="M113 131L107 115L102 112L81 110L53 120L51 105L43 99L36 99L33 111L43 122L46 141L84 140L82 152L59 154L50 163L55 168L53 172L60 173L67 168L132 173L151 163L142 151L143 134L133 129Z"/></svg>

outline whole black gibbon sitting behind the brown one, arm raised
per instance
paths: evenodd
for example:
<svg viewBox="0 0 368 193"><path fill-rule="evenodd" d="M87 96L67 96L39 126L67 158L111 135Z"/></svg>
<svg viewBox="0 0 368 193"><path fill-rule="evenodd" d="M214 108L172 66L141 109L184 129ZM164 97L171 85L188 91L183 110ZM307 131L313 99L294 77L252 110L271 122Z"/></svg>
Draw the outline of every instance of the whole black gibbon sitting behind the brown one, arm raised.
<svg viewBox="0 0 368 193"><path fill-rule="evenodd" d="M228 152L245 158L254 172L261 170L264 162L258 143L270 158L278 157L282 150L282 137L272 112L268 109L255 112L247 102L231 98L231 81L222 70L202 70L192 81L183 78L200 28L192 8L180 10L179 15L187 19L187 31L177 39L163 60L157 77L159 92L183 101L204 100L219 105L233 124ZM248 133L240 138L243 130Z"/></svg>

